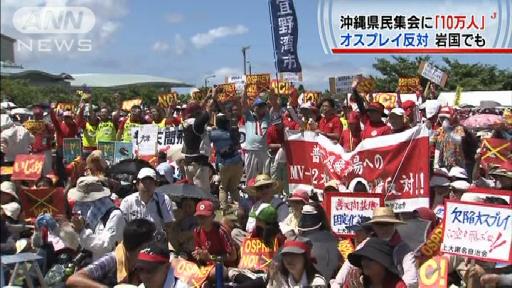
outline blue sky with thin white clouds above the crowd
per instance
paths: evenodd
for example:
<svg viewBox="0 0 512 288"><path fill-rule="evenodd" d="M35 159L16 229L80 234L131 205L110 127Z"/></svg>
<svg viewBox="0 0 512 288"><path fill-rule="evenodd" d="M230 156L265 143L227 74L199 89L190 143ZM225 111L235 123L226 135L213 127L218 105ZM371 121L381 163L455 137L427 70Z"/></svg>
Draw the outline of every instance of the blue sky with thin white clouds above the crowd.
<svg viewBox="0 0 512 288"><path fill-rule="evenodd" d="M17 54L17 62L26 68L68 73L152 74L202 85L205 75L216 74L213 82L222 82L225 75L241 73L240 49L250 45L248 60L253 73L274 72L266 0L2 0L1 3L2 33L15 38L27 37L12 27L12 15L21 5L86 3L84 6L95 13L93 31L81 36L92 40L93 51L22 51ZM375 73L371 64L376 57L387 55L324 54L318 35L317 4L315 0L295 0L298 50L306 87L323 90L328 87L329 76ZM434 61L440 61L440 57L434 57ZM464 63L512 67L510 54L451 57Z"/></svg>

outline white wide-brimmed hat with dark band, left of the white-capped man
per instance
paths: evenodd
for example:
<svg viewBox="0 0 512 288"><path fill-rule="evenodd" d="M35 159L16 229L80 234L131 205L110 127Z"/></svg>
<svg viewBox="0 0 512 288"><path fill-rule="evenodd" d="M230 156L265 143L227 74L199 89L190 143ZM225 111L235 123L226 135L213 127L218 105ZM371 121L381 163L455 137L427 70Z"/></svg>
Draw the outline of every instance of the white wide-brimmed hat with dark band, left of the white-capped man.
<svg viewBox="0 0 512 288"><path fill-rule="evenodd" d="M108 196L110 196L110 189L103 186L100 178L85 176L78 178L76 187L69 190L68 200L92 202Z"/></svg>

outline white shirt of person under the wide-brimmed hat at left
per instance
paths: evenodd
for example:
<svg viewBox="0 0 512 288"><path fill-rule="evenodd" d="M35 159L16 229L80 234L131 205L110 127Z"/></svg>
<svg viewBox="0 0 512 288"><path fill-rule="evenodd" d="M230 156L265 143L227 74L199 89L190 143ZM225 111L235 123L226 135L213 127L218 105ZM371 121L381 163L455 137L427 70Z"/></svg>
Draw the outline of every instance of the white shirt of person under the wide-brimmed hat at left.
<svg viewBox="0 0 512 288"><path fill-rule="evenodd" d="M96 261L106 253L112 252L116 243L123 241L125 225L123 213L116 209L112 211L105 225L99 221L94 231L84 228L80 232L80 244L92 252L92 260Z"/></svg>

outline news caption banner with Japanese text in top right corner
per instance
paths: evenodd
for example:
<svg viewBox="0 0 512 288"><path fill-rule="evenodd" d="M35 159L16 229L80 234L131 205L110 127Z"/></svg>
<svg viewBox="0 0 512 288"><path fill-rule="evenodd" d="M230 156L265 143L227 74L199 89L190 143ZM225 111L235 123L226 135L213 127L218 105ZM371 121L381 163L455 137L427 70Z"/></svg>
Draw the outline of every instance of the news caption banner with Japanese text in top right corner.
<svg viewBox="0 0 512 288"><path fill-rule="evenodd" d="M502 2L320 0L318 30L326 54L511 53Z"/></svg>

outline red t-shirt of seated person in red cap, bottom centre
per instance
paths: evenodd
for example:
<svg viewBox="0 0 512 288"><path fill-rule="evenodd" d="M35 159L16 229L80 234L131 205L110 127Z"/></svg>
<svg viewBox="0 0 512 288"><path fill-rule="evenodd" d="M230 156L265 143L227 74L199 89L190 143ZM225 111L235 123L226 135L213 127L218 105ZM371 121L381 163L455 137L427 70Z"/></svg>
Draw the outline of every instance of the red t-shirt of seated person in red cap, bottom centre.
<svg viewBox="0 0 512 288"><path fill-rule="evenodd" d="M208 250L210 255L221 256L229 254L235 249L231 235L219 223L214 222L210 231L201 227L194 229L194 243L196 249Z"/></svg>

